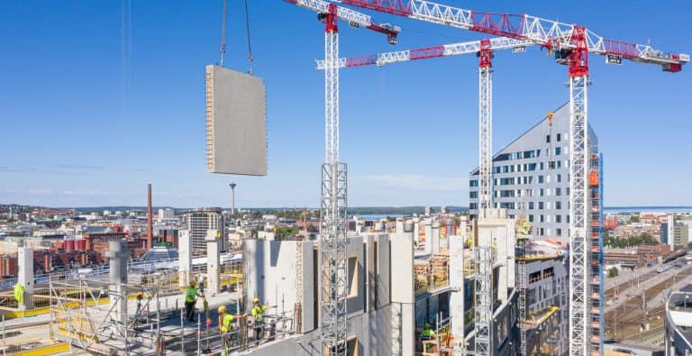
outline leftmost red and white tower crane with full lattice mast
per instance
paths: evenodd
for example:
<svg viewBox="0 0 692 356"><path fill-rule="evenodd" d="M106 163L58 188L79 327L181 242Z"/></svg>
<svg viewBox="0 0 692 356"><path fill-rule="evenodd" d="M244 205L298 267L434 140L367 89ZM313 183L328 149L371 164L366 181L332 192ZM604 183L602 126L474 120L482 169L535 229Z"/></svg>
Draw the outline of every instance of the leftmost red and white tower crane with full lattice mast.
<svg viewBox="0 0 692 356"><path fill-rule="evenodd" d="M330 355L346 354L346 164L339 160L339 28L338 20L351 27L364 27L383 33L396 44L400 29L379 24L369 15L339 7L323 0L285 0L317 13L324 29L324 134L325 160L322 165L320 266L321 293L320 339L322 350Z"/></svg>

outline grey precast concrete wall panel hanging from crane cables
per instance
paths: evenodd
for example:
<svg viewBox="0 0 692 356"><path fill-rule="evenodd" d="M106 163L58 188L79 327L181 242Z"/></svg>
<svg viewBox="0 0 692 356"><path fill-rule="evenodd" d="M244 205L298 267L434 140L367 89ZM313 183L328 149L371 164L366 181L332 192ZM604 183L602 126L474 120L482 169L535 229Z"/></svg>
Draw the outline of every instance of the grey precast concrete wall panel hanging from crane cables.
<svg viewBox="0 0 692 356"><path fill-rule="evenodd" d="M267 175L267 92L261 78L206 66L206 167Z"/></svg>

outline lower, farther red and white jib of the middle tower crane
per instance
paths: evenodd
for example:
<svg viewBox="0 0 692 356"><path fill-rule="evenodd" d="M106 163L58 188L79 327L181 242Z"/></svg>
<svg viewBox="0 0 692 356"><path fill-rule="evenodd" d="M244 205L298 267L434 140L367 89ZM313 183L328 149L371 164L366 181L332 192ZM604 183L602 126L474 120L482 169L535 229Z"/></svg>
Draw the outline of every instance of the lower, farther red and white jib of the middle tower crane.
<svg viewBox="0 0 692 356"><path fill-rule="evenodd" d="M496 37L489 40L490 50L521 50L528 46L533 46L533 41L515 40L505 37ZM360 66L384 66L396 62L405 62L416 59L430 59L448 56L460 56L463 54L474 54L481 50L481 41L468 41L439 46L423 47L412 50L398 50L393 52L371 54L368 56L348 57L339 59L339 68L360 67ZM315 60L316 68L323 70L324 60Z"/></svg>

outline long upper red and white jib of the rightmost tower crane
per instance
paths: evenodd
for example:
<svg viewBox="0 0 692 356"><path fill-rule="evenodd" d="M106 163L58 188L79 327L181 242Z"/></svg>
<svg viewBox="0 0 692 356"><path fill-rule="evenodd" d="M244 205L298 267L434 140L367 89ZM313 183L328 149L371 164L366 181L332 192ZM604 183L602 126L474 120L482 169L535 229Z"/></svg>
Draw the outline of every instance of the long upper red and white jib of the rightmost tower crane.
<svg viewBox="0 0 692 356"><path fill-rule="evenodd" d="M489 33L516 40L533 41L549 50L573 50L573 34L578 26L545 20L528 14L496 14L476 12L426 0L332 0L387 14L396 14L428 23L438 23L469 31ZM573 33L574 32L574 33ZM606 56L609 63L622 59L658 64L663 70L678 72L690 60L688 54L671 54L649 45L605 39L584 31L588 52Z"/></svg>

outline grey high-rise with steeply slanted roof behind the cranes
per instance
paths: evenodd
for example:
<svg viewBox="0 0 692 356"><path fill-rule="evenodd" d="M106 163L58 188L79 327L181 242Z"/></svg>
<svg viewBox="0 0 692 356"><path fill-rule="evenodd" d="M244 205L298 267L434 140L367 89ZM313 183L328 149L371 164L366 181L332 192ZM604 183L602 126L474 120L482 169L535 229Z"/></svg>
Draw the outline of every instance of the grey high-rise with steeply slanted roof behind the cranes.
<svg viewBox="0 0 692 356"><path fill-rule="evenodd" d="M598 139L589 126L590 151ZM533 236L569 241L569 105L562 105L493 157L493 205L524 215ZM478 168L469 177L469 213L478 215Z"/></svg>

